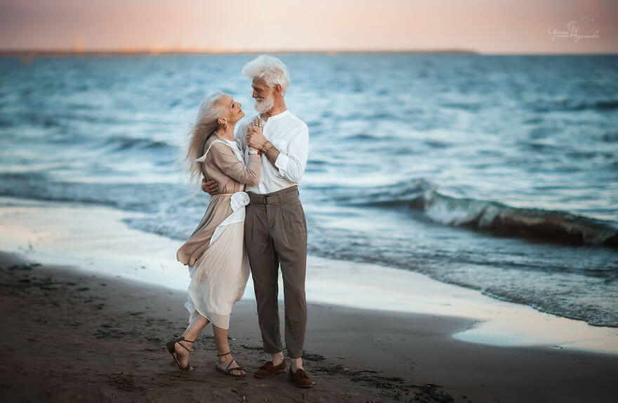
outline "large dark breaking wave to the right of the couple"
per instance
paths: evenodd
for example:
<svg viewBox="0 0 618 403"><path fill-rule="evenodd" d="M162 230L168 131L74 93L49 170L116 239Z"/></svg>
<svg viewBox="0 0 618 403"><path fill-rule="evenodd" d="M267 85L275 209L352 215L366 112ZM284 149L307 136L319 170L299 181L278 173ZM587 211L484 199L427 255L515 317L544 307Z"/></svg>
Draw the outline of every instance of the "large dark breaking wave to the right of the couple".
<svg viewBox="0 0 618 403"><path fill-rule="evenodd" d="M398 188L393 191L390 189ZM361 196L362 197L362 196ZM355 200L352 200L354 198ZM618 224L560 210L512 207L492 200L457 198L435 190L423 179L369 193L360 203L376 207L409 208L432 222L565 245L605 245L618 248ZM346 196L339 198L345 202Z"/></svg>

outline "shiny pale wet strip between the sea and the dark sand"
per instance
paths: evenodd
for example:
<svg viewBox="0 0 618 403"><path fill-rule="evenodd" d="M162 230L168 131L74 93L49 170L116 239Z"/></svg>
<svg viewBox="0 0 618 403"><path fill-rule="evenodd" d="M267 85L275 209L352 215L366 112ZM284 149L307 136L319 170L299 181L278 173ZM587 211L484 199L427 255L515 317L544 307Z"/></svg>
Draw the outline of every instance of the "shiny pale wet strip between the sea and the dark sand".
<svg viewBox="0 0 618 403"><path fill-rule="evenodd" d="M81 267L185 291L188 271L175 259L181 241L131 229L135 212L83 203L0 198L3 250L31 260ZM170 252L171 251L171 252ZM415 271L308 255L308 302L390 313L457 316L472 325L455 340L501 347L546 346L618 356L618 328L540 312L492 298L481 290L431 279ZM280 300L282 279L280 276ZM249 279L244 300L254 300Z"/></svg>

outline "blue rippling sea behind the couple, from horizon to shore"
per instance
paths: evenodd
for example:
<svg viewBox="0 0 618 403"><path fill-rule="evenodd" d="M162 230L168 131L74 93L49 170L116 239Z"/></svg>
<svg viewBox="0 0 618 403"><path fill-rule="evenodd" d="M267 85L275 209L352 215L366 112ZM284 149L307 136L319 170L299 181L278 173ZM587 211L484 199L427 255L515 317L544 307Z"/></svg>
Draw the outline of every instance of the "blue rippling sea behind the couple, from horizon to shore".
<svg viewBox="0 0 618 403"><path fill-rule="evenodd" d="M255 115L255 56L1 57L0 196L185 240L209 203L180 163L197 106L218 89ZM311 255L618 327L618 56L278 56Z"/></svg>

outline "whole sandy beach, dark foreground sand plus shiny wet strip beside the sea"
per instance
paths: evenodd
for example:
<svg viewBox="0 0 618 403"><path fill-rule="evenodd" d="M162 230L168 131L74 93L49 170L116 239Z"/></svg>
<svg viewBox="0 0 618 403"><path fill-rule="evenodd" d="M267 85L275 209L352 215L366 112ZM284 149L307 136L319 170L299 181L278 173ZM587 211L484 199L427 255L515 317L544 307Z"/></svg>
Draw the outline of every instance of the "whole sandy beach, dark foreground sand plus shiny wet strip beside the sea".
<svg viewBox="0 0 618 403"><path fill-rule="evenodd" d="M251 284L230 327L230 347L249 376L226 378L213 369L210 327L195 345L195 371L184 373L164 348L183 332L188 314L183 273L171 275L164 267L172 264L168 249L177 242L128 229L123 215L88 205L3 200L2 401L611 402L618 392L615 328L542 314L420 275L409 278L418 282L414 288L398 270L391 279L384 269L392 287L380 293L385 286L378 280L369 286L361 273L372 276L372 267L357 265L358 279L350 277L346 290L329 275L352 271L317 258L308 270L317 283L308 282L305 342L314 388L295 388L283 374L251 376L267 358ZM160 283L165 279L168 286ZM346 295L360 290L365 294L357 294L358 307L351 307ZM367 309L361 302L375 305L375 295L388 300L389 292L393 309ZM406 300L407 294L422 303ZM479 319L482 314L486 319ZM562 327L555 335L537 325L515 334L522 318ZM461 340L473 339L474 332L482 336L475 343ZM498 345L497 338L508 340Z"/></svg>

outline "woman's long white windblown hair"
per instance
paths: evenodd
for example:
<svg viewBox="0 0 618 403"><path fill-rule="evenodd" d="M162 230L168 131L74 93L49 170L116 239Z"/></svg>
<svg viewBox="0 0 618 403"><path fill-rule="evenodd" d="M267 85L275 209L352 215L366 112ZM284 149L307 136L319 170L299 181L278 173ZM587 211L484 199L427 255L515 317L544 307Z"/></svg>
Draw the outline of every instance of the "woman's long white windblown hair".
<svg viewBox="0 0 618 403"><path fill-rule="evenodd" d="M225 115L223 105L219 102L222 96L225 96L223 92L214 91L202 99L197 110L197 117L185 143L184 166L187 181L189 183L196 181L197 186L201 186L202 165L195 160L203 155L206 140L218 129L218 118Z"/></svg>

